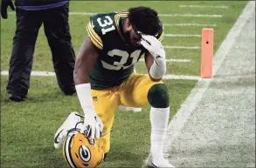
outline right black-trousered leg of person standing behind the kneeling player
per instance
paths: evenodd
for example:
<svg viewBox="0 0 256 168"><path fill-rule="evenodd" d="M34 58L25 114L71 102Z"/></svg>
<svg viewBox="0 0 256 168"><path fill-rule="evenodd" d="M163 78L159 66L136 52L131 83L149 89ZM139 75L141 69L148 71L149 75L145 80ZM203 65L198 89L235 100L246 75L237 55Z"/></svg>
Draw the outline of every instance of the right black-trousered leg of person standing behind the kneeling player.
<svg viewBox="0 0 256 168"><path fill-rule="evenodd" d="M64 94L73 95L75 54L68 23L68 4L45 10L44 26L45 36L52 50L52 61L59 88Z"/></svg>

